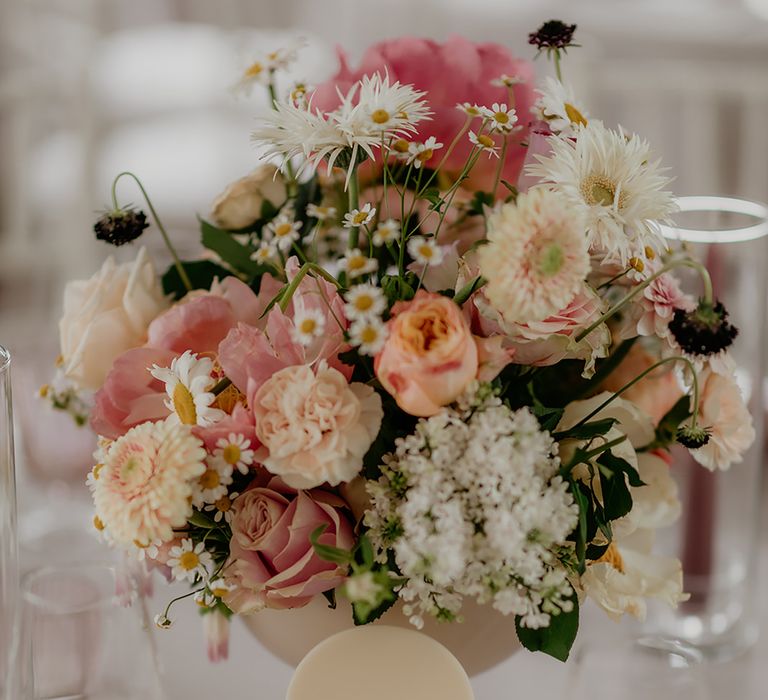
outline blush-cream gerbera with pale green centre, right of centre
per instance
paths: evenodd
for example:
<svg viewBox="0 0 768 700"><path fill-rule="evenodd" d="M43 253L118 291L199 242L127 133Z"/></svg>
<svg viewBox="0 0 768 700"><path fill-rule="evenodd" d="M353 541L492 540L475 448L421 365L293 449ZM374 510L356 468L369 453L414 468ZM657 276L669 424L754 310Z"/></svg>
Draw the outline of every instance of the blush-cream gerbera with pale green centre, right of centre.
<svg viewBox="0 0 768 700"><path fill-rule="evenodd" d="M565 308L583 287L590 257L578 212L554 192L534 188L488 217L478 250L491 305L508 321L541 321Z"/></svg>

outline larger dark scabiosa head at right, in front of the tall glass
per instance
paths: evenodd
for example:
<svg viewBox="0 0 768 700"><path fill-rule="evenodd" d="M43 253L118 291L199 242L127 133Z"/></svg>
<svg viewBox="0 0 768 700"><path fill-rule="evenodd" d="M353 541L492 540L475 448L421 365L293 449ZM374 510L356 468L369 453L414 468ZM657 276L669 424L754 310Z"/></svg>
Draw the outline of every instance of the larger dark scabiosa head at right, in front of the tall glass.
<svg viewBox="0 0 768 700"><path fill-rule="evenodd" d="M669 330L689 355L714 355L727 348L739 332L728 323L728 311L719 301L703 300L693 311L675 309Z"/></svg>

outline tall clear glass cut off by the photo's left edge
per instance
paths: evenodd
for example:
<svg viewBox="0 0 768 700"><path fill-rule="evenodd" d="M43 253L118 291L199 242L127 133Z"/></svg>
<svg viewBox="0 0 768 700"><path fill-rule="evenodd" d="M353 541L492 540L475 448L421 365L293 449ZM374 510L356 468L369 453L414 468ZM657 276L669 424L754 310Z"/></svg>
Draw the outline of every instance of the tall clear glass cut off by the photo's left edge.
<svg viewBox="0 0 768 700"><path fill-rule="evenodd" d="M0 346L0 698L16 700L9 687L11 644L18 610L16 479L13 466L11 356Z"/></svg>

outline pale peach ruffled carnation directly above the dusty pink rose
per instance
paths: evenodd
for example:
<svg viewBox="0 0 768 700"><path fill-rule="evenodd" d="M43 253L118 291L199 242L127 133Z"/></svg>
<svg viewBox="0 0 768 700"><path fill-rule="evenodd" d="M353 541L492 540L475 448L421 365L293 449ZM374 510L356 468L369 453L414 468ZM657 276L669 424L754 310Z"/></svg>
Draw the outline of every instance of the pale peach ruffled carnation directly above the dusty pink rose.
<svg viewBox="0 0 768 700"><path fill-rule="evenodd" d="M381 399L365 384L321 363L276 372L253 399L256 433L263 448L256 457L293 488L354 478L379 432Z"/></svg>

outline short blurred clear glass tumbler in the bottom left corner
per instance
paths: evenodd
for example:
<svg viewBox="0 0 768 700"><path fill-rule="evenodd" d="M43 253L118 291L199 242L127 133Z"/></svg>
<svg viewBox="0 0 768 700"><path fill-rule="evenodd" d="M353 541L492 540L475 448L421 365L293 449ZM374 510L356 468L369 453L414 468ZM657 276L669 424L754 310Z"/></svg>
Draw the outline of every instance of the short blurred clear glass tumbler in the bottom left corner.
<svg viewBox="0 0 768 700"><path fill-rule="evenodd" d="M126 583L99 564L24 577L16 700L162 700L146 600Z"/></svg>

